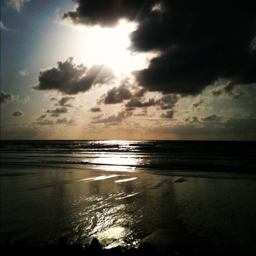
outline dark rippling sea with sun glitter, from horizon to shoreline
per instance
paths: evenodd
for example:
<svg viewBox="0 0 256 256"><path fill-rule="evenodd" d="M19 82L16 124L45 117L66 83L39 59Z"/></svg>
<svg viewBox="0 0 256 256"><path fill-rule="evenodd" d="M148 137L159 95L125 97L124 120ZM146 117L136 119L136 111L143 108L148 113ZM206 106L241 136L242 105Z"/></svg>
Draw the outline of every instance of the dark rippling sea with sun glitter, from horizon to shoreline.
<svg viewBox="0 0 256 256"><path fill-rule="evenodd" d="M1 163L164 175L221 176L256 172L253 141L12 140ZM218 175L217 175L218 174ZM229 175L230 176L230 175ZM221 176L222 177L222 176Z"/></svg>

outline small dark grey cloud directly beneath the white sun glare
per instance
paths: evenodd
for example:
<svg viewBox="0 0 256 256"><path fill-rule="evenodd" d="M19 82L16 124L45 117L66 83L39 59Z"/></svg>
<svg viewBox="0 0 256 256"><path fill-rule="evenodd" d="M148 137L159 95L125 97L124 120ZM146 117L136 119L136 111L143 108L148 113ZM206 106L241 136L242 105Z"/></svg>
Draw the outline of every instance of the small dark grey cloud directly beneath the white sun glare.
<svg viewBox="0 0 256 256"><path fill-rule="evenodd" d="M125 99L131 99L132 93L126 88L125 84L119 87L114 87L106 94L101 96L98 103L104 102L105 104L121 103Z"/></svg>

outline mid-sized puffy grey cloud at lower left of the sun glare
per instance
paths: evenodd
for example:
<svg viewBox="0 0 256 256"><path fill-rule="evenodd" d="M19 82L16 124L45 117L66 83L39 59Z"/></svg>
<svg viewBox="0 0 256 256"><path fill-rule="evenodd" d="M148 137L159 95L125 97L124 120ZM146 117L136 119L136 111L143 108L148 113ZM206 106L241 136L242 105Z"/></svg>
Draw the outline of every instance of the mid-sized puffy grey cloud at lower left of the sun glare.
<svg viewBox="0 0 256 256"><path fill-rule="evenodd" d="M114 77L113 71L104 65L95 65L88 69L75 65L73 58L65 62L58 61L57 68L41 71L36 90L56 90L63 94L86 92L96 84L103 84Z"/></svg>

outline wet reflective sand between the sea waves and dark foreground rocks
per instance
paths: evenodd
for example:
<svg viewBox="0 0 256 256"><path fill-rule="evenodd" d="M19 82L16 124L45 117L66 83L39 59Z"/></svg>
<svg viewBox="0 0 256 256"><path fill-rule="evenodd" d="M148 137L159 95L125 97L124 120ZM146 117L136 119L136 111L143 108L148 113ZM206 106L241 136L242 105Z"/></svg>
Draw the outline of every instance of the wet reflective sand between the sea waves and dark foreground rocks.
<svg viewBox="0 0 256 256"><path fill-rule="evenodd" d="M255 179L3 166L1 243L256 251L255 198Z"/></svg>

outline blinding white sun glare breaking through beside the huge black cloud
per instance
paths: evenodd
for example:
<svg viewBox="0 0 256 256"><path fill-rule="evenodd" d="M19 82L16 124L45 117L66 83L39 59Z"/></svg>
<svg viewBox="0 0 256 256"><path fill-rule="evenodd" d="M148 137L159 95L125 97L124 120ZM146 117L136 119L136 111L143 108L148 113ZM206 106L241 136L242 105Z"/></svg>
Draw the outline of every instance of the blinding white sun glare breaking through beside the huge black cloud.
<svg viewBox="0 0 256 256"><path fill-rule="evenodd" d="M129 34L135 29L135 23L125 20L121 20L115 28L80 26L75 42L75 59L88 66L103 63L112 68L117 76L146 68L148 60L156 54L135 54L128 49L131 45Z"/></svg>

